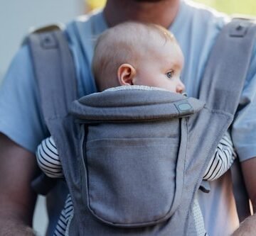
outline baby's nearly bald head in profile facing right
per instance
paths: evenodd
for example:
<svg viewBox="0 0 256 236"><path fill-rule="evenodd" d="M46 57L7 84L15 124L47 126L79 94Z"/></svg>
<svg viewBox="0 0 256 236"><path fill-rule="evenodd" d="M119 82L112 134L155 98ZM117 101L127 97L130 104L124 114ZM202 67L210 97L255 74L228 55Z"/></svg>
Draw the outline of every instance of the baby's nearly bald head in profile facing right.
<svg viewBox="0 0 256 236"><path fill-rule="evenodd" d="M121 23L97 40L92 70L99 91L146 85L182 93L183 54L174 35L161 26Z"/></svg>

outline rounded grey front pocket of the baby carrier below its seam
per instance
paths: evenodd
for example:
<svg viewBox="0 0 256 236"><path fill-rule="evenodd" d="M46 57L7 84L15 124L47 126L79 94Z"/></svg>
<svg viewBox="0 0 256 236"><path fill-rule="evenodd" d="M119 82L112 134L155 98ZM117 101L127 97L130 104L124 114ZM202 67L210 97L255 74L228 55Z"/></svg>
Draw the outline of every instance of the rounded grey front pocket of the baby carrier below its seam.
<svg viewBox="0 0 256 236"><path fill-rule="evenodd" d="M154 225L174 212L178 137L110 138L86 143L87 205L119 227ZM180 176L183 177L183 174ZM177 204L175 204L176 206Z"/></svg>

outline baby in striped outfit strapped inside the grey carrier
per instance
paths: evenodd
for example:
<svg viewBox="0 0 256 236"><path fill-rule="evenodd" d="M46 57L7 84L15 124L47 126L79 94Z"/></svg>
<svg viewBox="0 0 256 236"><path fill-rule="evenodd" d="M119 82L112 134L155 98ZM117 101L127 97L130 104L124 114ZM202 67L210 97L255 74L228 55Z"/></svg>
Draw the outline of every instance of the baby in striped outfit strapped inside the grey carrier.
<svg viewBox="0 0 256 236"><path fill-rule="evenodd" d="M120 90L127 86L140 89L164 89L182 94L183 54L174 35L161 26L135 22L122 23L102 33L95 45L92 70L99 91ZM38 165L53 178L63 177L58 150L52 137L43 140L36 152ZM235 152L228 133L220 140L203 177L212 181L233 163ZM221 163L221 164L220 164ZM55 235L65 235L73 203L65 203Z"/></svg>

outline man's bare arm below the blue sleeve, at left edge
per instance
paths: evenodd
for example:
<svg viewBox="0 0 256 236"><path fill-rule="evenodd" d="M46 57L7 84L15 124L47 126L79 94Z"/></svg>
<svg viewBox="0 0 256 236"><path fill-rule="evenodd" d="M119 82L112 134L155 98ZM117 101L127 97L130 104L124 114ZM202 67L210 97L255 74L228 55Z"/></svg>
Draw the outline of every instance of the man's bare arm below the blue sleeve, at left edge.
<svg viewBox="0 0 256 236"><path fill-rule="evenodd" d="M0 133L0 235L34 235L35 174L34 154Z"/></svg>

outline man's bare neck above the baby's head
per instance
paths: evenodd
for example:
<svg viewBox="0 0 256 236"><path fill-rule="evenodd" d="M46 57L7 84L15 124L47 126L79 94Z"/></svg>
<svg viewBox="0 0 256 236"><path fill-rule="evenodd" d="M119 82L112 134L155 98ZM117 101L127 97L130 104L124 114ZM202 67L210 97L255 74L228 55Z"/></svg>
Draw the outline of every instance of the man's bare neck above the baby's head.
<svg viewBox="0 0 256 236"><path fill-rule="evenodd" d="M107 24L124 21L156 23L169 28L178 12L180 0L108 0L104 9Z"/></svg>

